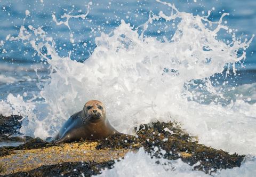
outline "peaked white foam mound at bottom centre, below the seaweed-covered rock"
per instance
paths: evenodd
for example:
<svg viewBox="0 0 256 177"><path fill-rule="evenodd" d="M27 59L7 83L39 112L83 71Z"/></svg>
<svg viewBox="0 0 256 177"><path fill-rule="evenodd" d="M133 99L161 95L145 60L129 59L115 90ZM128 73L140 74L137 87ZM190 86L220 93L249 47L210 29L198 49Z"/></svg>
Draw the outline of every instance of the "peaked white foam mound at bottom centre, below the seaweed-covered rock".
<svg viewBox="0 0 256 177"><path fill-rule="evenodd" d="M140 148L137 153L128 152L124 159L114 164L114 168L102 170L98 176L210 176L192 170L193 166L183 163L181 159L151 158Z"/></svg>

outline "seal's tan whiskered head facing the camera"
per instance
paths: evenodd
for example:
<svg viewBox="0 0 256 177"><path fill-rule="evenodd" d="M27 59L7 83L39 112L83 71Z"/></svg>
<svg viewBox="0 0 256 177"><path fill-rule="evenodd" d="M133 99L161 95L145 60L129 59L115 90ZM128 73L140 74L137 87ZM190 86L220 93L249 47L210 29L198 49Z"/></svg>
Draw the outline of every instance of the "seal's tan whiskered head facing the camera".
<svg viewBox="0 0 256 177"><path fill-rule="evenodd" d="M84 114L91 122L104 119L106 117L106 110L102 102L98 100L91 100L84 105Z"/></svg>

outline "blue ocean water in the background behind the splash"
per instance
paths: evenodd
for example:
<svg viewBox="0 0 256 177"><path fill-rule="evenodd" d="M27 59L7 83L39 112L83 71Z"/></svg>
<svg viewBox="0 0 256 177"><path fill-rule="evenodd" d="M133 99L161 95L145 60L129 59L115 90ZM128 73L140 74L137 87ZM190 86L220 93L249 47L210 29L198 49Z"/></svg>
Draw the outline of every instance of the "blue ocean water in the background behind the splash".
<svg viewBox="0 0 256 177"><path fill-rule="evenodd" d="M179 11L193 13L194 15L207 14L212 11L209 20L218 21L223 13L229 13L225 17L228 26L236 31L238 37L251 38L256 29L256 2L246 1L168 1L174 3ZM2 77L12 77L18 79L18 82L12 82L7 78L7 82L0 81L0 99L5 99L9 93L14 95L28 93L27 99L31 98L34 92L38 92L40 82L35 74L34 66L42 65L41 58L35 54L35 51L29 44L23 41L6 41L6 36L17 36L19 29L23 25L28 27L42 27L47 32L47 36L54 39L58 54L83 62L89 58L95 48L95 37L103 33L110 33L115 29L121 20L131 23L131 26L138 27L148 20L150 11L158 13L160 10L168 12L168 7L155 1L93 1L90 7L89 15L86 19L71 18L69 26L73 34L74 43L70 43L70 30L65 25L57 26L52 19L55 14L57 21L63 21L61 15L69 13L70 15L79 15L86 12L86 5L89 2L84 1L0 1L0 41L4 45L0 46L0 73ZM26 17L26 10L30 13ZM26 20L24 18L26 17ZM146 36L153 36L159 40L163 37L171 36L175 29L168 28L164 30L167 24L164 20L159 20L157 26L151 26L145 33ZM158 31L159 29L163 29ZM225 33L220 34L221 39L229 39ZM167 37L168 38L168 37ZM249 49L246 50L246 60L244 67L237 63L239 75L236 78L236 84L247 84L256 82L256 42L252 41ZM33 67L31 67L33 65ZM47 69L40 69L38 73L42 77L47 77ZM225 78L220 75L220 80ZM232 76L228 77L231 78ZM234 78L234 77L233 77ZM229 82L230 84L234 82Z"/></svg>

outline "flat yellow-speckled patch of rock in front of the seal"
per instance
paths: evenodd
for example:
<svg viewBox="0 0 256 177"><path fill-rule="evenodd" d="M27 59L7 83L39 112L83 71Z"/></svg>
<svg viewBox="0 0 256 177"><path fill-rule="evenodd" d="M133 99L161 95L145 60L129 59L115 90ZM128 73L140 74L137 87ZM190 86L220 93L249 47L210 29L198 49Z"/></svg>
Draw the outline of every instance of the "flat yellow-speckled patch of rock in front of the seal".
<svg viewBox="0 0 256 177"><path fill-rule="evenodd" d="M24 174L23 172L29 172L41 166L50 167L50 165L53 165L53 167L55 167L54 165L65 162L93 162L101 164L109 162L109 160L112 159L122 158L129 151L125 149L97 150L95 148L97 145L98 142L85 141L78 143L65 143L60 144L59 146L39 149L14 150L14 154L0 157L0 162L2 162L4 169L0 175L10 173L16 173L17 175L19 173ZM71 166L76 168L74 164ZM47 168L42 168L42 171L43 170L47 170Z"/></svg>

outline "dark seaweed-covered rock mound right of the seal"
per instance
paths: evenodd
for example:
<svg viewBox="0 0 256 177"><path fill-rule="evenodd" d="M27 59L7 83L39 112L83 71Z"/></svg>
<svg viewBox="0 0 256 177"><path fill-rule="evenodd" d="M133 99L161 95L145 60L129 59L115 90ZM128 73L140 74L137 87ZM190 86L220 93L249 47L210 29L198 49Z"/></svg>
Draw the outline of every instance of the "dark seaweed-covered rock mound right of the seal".
<svg viewBox="0 0 256 177"><path fill-rule="evenodd" d="M244 155L233 154L223 150L206 147L183 132L173 123L156 122L140 125L136 136L113 136L107 140L101 140L97 148L130 148L144 147L152 156L163 157L171 160L181 158L189 165L195 165L195 170L212 173L222 168L239 167Z"/></svg>

